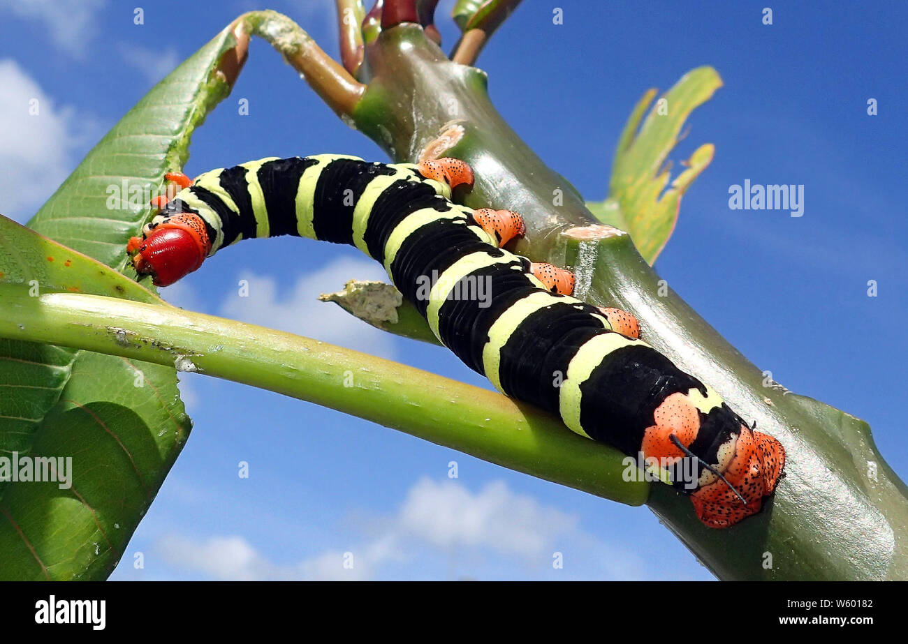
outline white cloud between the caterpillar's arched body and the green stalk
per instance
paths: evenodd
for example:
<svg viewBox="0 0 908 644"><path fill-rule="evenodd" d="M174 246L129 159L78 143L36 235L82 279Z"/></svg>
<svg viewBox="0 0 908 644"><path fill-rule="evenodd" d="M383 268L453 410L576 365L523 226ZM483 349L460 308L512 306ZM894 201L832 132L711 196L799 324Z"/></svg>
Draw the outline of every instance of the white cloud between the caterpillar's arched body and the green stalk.
<svg viewBox="0 0 908 644"><path fill-rule="evenodd" d="M373 356L393 358L394 341L385 331L338 307L321 302L321 293L343 288L349 279L384 279L380 265L365 259L336 259L321 270L302 275L289 293L280 293L277 280L244 271L238 280L249 282L249 296L239 288L221 305L220 315L262 327L276 328L331 344L347 346Z"/></svg>

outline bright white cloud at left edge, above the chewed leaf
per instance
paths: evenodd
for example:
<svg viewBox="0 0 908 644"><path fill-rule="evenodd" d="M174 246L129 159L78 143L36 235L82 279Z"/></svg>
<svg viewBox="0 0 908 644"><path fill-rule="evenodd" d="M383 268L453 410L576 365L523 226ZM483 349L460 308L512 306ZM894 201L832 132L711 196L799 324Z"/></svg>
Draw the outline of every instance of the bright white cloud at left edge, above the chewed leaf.
<svg viewBox="0 0 908 644"><path fill-rule="evenodd" d="M72 171L92 126L55 105L15 61L0 60L0 87L0 213L25 221Z"/></svg>

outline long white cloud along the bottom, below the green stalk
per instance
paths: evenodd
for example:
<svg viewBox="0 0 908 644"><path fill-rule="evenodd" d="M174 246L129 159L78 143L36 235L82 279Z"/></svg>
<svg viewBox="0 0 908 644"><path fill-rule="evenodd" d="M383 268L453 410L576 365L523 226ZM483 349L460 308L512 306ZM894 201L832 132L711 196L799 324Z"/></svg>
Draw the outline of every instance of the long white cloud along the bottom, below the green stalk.
<svg viewBox="0 0 908 644"><path fill-rule="evenodd" d="M420 479L398 511L376 526L360 535L359 545L350 551L326 551L291 565L269 561L239 536L204 542L168 537L156 543L155 551L189 577L215 580L385 579L400 577L408 562L414 564L411 571L421 571L419 563L427 561L448 561L450 566L454 553L458 567L470 569L457 571L459 577L482 578L489 570L503 578L646 575L645 562L636 553L598 540L580 529L577 515L513 493L501 481L473 493L455 481ZM555 552L564 556L563 571L552 567Z"/></svg>

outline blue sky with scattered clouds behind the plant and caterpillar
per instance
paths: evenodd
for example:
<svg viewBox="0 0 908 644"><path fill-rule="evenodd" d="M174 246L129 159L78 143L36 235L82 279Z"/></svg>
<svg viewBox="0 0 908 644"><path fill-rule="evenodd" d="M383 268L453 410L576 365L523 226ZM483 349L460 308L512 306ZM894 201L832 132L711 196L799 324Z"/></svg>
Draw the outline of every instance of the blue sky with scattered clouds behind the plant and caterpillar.
<svg viewBox="0 0 908 644"><path fill-rule="evenodd" d="M264 8L155 1L134 25L137 4L0 0L0 212L27 220L153 83L235 15ZM767 4L526 0L479 66L508 122L590 200L605 196L618 133L646 88L715 66L725 86L672 158L712 141L716 159L683 200L656 268L775 380L868 421L905 477L908 141L897 123L908 104L908 5L777 2L764 25ZM451 5L442 0L438 14L446 50ZM330 0L270 6L337 54ZM554 6L564 24L552 24ZM40 127L17 107L31 97L48 108ZM256 42L231 97L194 136L186 172L324 151L386 160ZM729 210L729 186L747 179L803 184L804 216ZM163 294L488 386L439 347L314 301L348 278L382 277L353 249L255 240ZM237 297L243 278L250 298ZM878 297L867 296L870 279ZM182 388L192 436L113 579L712 578L646 508L242 385L188 375Z"/></svg>

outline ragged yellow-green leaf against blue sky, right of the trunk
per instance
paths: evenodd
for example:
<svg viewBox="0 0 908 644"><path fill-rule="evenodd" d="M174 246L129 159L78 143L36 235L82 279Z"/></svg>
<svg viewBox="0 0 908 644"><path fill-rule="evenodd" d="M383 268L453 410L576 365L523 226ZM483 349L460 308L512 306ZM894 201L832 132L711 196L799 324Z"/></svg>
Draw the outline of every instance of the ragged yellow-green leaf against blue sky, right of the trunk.
<svg viewBox="0 0 908 644"><path fill-rule="evenodd" d="M637 132L646 108L656 97L655 89L647 91L618 140L608 199L587 203L600 221L627 231L650 264L656 261L675 229L682 195L713 160L715 147L705 143L682 161L686 170L671 181L668 190L671 166L666 157L675 147L690 113L721 86L722 79L712 67L698 67L686 73L656 102Z"/></svg>

